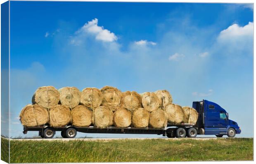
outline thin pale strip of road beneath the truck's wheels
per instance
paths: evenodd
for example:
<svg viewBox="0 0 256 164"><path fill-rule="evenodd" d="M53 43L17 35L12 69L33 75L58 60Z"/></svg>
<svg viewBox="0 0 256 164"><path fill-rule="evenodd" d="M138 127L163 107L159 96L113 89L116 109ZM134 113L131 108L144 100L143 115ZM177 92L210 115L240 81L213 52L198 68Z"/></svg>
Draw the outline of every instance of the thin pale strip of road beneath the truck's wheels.
<svg viewBox="0 0 256 164"><path fill-rule="evenodd" d="M126 138L74 138L74 139L63 139L63 138L53 138L53 139L11 139L14 141L112 141L112 140L125 140ZM154 139L154 138L127 138L128 140L145 140L145 139ZM216 137L207 137L207 138L155 138L155 139L164 139L164 140L179 140L179 139L193 139L193 140L209 140L217 139Z"/></svg>

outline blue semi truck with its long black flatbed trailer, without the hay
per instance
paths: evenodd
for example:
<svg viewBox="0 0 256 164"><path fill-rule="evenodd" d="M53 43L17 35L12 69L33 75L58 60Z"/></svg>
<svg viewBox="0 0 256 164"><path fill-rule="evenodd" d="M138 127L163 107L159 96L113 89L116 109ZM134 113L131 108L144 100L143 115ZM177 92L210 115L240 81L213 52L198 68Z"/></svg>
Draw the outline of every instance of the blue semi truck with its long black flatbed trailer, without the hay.
<svg viewBox="0 0 256 164"><path fill-rule="evenodd" d="M230 120L227 111L214 102L202 100L193 102L192 107L198 112L198 120L195 124L180 123L173 124L167 123L164 128L137 128L137 127L107 127L97 128L94 126L89 127L76 127L66 125L64 127L50 127L50 125L24 127L24 134L28 131L38 131L39 136L42 138L52 138L55 132L60 131L63 138L74 138L77 132L83 133L111 133L111 134L158 134L167 136L168 138L194 138L199 135L216 135L222 137L235 137L236 134L241 133L241 129L237 122Z"/></svg>

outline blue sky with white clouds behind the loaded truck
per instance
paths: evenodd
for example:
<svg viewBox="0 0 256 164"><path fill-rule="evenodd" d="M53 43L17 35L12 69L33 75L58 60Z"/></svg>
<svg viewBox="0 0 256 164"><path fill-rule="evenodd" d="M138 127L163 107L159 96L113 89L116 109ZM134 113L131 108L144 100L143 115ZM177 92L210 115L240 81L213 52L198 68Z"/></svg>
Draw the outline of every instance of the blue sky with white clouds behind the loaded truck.
<svg viewBox="0 0 256 164"><path fill-rule="evenodd" d="M10 136L36 88L76 86L220 104L253 136L253 9L246 4L10 3ZM59 134L58 134L59 135ZM98 137L136 135L79 134ZM147 137L141 135L142 137ZM154 135L148 137L156 137Z"/></svg>

